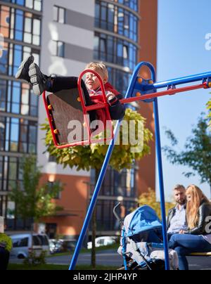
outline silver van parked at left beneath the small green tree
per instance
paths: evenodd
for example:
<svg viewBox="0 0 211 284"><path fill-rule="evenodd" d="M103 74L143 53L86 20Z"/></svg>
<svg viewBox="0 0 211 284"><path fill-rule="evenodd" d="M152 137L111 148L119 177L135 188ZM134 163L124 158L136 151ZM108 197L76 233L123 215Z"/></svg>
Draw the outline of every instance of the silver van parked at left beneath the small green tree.
<svg viewBox="0 0 211 284"><path fill-rule="evenodd" d="M13 241L13 249L11 250L11 257L18 257L24 259L29 256L29 253L34 251L39 255L42 251L50 254L49 238L44 234L25 233L19 235L11 235Z"/></svg>

